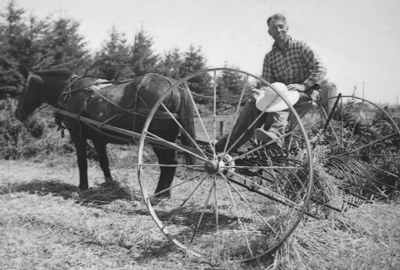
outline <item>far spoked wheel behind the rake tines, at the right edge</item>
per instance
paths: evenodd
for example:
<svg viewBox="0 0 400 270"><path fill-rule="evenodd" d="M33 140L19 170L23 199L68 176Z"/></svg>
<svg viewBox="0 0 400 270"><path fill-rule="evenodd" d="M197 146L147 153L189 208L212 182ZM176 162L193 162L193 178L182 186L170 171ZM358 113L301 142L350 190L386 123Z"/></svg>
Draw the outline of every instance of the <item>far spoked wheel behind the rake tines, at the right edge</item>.
<svg viewBox="0 0 400 270"><path fill-rule="evenodd" d="M339 95L321 101L302 121L312 147L326 157L327 172L340 180L342 211L397 190L400 131L386 111L363 98Z"/></svg>

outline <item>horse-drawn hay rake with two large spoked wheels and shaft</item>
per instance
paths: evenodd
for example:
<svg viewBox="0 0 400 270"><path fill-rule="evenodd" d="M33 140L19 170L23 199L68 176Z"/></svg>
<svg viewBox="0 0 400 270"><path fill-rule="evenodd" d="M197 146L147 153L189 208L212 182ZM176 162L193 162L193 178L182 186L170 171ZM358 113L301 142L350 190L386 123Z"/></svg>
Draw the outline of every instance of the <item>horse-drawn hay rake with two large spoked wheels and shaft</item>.
<svg viewBox="0 0 400 270"><path fill-rule="evenodd" d="M207 89L202 91L208 94L189 90L204 81L208 82L204 84ZM262 86L271 85L240 70L197 72L164 92L148 113L141 134L54 110L103 132L139 140L137 173L144 201L157 226L175 245L192 256L212 261L248 261L277 249L304 215L319 218L321 209L346 211L376 198L386 199L399 183L399 127L377 105L354 96L328 98L310 104L299 114L275 90L290 111L288 130L279 138L285 141L283 149L271 149L273 142L251 138L237 150L225 147L217 151L214 143L221 138L219 121L226 118L220 113L219 107L226 100L217 97L219 91L228 89L237 97L231 119L234 123L250 90ZM150 132L152 121L160 121L157 112L162 111L180 127L181 136L188 135L179 116L163 105L177 87L188 92L194 107L197 137L191 138L192 147L179 140L171 143ZM225 130L228 138L231 129ZM145 151L149 144L186 155L179 155L177 164L159 164ZM197 163L188 165L188 156ZM157 186L154 176L166 167L174 167L175 171L174 182L168 188L172 196L154 200L166 191L153 194Z"/></svg>

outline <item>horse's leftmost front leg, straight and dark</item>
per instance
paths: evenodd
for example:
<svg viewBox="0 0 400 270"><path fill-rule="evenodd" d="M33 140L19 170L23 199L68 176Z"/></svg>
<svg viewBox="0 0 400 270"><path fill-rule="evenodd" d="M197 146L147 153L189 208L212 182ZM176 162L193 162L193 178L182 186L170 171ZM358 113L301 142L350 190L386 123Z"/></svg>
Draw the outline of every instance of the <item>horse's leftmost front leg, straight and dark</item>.
<svg viewBox="0 0 400 270"><path fill-rule="evenodd" d="M78 167L79 167L79 189L86 190L89 188L88 183L88 159L86 141L81 140L79 134L70 132L72 142L77 149Z"/></svg>

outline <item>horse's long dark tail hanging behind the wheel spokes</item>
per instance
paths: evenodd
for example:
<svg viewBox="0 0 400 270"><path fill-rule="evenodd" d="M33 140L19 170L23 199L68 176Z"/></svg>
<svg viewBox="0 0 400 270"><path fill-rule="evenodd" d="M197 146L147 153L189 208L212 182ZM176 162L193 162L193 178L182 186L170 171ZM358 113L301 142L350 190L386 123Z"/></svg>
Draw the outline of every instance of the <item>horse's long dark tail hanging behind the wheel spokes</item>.
<svg viewBox="0 0 400 270"><path fill-rule="evenodd" d="M179 123L182 125L183 129L186 130L188 134L185 132L181 132L181 142L183 145L187 145L190 147L194 147L194 143L188 136L193 138L195 140L196 138L196 130L194 129L194 120L193 120L193 115L194 115L194 105L192 101L190 100L190 96L188 93L188 88L186 89L180 89L181 92L181 108L179 110ZM195 158L194 156L185 153L186 161L189 165L194 165L195 163Z"/></svg>

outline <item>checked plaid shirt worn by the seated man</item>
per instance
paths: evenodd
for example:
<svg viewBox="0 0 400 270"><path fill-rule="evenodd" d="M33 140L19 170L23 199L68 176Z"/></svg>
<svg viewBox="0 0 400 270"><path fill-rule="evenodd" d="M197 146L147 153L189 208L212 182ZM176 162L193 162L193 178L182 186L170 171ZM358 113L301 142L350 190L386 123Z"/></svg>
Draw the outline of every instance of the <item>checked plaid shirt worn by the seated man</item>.
<svg viewBox="0 0 400 270"><path fill-rule="evenodd" d="M266 54L262 78L268 83L304 83L308 87L320 84L326 75L326 67L319 56L303 41L289 37L288 47L281 51L277 43Z"/></svg>

